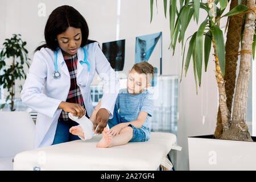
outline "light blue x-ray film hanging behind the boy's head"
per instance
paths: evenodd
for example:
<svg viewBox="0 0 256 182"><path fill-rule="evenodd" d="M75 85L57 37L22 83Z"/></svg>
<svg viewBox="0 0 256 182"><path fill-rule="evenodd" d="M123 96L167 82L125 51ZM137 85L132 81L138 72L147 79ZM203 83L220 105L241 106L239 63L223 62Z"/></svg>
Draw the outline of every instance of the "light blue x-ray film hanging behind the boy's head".
<svg viewBox="0 0 256 182"><path fill-rule="evenodd" d="M159 49L156 48L158 42ZM155 68L155 76L151 81L151 85L156 86L159 70L160 75L162 75L162 32L137 36L135 43L135 63L142 61L148 61Z"/></svg>

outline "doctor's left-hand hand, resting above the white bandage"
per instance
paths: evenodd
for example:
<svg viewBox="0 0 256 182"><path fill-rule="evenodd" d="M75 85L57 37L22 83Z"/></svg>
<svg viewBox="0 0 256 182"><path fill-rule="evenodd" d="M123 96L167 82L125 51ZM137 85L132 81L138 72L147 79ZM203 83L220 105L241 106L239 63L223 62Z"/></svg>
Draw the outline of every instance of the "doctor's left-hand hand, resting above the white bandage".
<svg viewBox="0 0 256 182"><path fill-rule="evenodd" d="M68 113L72 113L73 115L78 116L79 119L85 115L85 109L80 104L62 101L60 102L58 109L63 109Z"/></svg>

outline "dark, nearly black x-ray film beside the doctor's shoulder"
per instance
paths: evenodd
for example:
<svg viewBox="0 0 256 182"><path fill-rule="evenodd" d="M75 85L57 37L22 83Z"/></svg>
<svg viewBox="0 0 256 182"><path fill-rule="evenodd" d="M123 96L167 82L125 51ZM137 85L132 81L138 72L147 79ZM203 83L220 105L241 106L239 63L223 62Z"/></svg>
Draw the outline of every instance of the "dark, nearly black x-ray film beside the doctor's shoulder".
<svg viewBox="0 0 256 182"><path fill-rule="evenodd" d="M122 71L125 63L125 40L102 43L102 52L115 71Z"/></svg>

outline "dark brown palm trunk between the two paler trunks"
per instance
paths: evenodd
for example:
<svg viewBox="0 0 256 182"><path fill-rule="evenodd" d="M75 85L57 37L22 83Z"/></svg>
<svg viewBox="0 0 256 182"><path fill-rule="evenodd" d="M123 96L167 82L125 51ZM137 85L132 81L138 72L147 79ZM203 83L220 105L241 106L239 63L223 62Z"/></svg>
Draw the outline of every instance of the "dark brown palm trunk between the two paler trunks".
<svg viewBox="0 0 256 182"><path fill-rule="evenodd" d="M242 5L245 5L245 0L241 1ZM232 0L230 3L230 10L238 5L238 0ZM238 49L240 47L241 29L243 22L243 14L229 16L228 19L228 32L226 35L225 45L225 90L226 90L226 104L228 106L229 113L232 113L232 102L234 95L234 88L236 86L236 71L238 60ZM216 130L214 132L215 138L220 138L222 134L222 121L220 107L217 114Z"/></svg>

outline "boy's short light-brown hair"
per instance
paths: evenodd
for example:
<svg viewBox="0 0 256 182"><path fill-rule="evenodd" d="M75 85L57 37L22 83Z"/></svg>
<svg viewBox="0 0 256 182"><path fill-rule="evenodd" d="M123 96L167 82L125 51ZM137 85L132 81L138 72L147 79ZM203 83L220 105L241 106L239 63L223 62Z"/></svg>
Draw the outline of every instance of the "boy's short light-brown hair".
<svg viewBox="0 0 256 182"><path fill-rule="evenodd" d="M147 63L147 61L134 64L133 68L131 69L135 69L135 71L139 74L144 73L147 76L147 83L150 82L154 77L155 69L151 64Z"/></svg>

